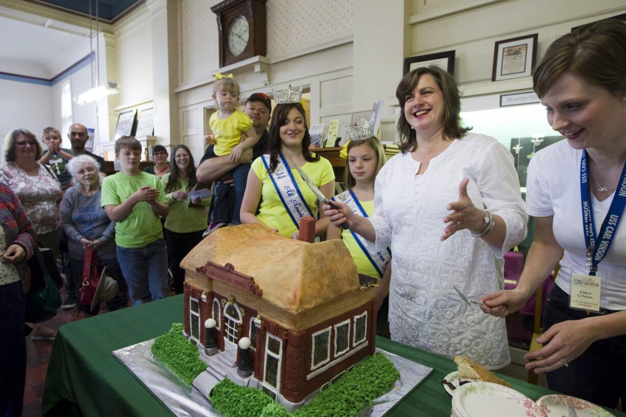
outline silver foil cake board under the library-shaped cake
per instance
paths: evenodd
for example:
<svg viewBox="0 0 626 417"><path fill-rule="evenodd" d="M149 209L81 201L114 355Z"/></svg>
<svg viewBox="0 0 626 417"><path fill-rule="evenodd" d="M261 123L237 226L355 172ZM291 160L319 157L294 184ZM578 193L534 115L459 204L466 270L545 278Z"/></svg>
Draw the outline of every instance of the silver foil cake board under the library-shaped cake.
<svg viewBox="0 0 626 417"><path fill-rule="evenodd" d="M200 392L200 389L203 391L209 389L209 386L204 386L204 383L198 379L206 372L200 374L194 381L194 385L200 389L187 386L170 369L153 358L150 350L153 342L154 339L150 339L118 349L113 351L113 356L173 415L177 417L223 417L222 413L213 408L208 397ZM376 350L384 353L396 366L400 379L396 381L391 391L374 399L372 404L361 412L362 417L384 416L433 371L433 368L409 361L396 354L382 349ZM236 372L236 368L233 369ZM210 384L212 388L212 383L207 382L207 384Z"/></svg>

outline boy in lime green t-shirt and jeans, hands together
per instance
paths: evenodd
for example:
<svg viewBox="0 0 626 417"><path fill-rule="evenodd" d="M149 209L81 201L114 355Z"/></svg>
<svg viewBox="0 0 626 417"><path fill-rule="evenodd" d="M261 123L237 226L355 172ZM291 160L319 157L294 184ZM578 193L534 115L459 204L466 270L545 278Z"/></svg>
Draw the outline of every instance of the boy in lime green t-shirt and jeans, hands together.
<svg viewBox="0 0 626 417"><path fill-rule="evenodd" d="M133 136L115 141L121 170L102 181L100 205L115 222L116 258L133 306L168 292L167 248L159 216L167 216L163 185L141 172L141 143Z"/></svg>

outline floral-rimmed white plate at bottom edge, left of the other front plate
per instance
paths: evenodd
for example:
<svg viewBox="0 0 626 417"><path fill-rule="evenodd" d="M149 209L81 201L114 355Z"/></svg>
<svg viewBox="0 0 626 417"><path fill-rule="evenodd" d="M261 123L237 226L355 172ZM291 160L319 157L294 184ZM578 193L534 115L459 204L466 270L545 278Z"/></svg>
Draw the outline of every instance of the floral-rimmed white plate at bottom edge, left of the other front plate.
<svg viewBox="0 0 626 417"><path fill-rule="evenodd" d="M532 399L506 386L481 381L454 390L451 417L503 416L547 417Z"/></svg>

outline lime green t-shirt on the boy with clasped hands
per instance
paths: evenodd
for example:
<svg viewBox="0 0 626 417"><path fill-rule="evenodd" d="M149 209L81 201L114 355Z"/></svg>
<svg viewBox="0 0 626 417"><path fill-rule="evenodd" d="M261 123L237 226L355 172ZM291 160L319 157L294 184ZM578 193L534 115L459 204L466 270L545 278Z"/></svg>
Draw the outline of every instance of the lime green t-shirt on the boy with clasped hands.
<svg viewBox="0 0 626 417"><path fill-rule="evenodd" d="M156 201L165 202L163 185L156 175L145 172L138 175L125 175L118 172L102 180L100 205L101 207L120 205L144 185L158 188L160 193ZM115 244L120 247L144 247L156 239L162 239L162 237L161 220L152 210L152 206L145 201L136 203L128 217L115 224Z"/></svg>

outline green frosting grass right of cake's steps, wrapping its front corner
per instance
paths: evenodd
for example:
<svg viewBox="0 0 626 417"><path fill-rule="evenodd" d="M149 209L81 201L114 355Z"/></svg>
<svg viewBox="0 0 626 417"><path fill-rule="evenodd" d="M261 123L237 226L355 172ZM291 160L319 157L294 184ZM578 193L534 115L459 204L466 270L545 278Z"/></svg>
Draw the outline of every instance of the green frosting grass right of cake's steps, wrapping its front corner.
<svg viewBox="0 0 626 417"><path fill-rule="evenodd" d="M211 401L227 417L355 417L359 411L393 388L398 369L382 353L363 359L344 376L295 413L259 389L224 379L213 388Z"/></svg>

